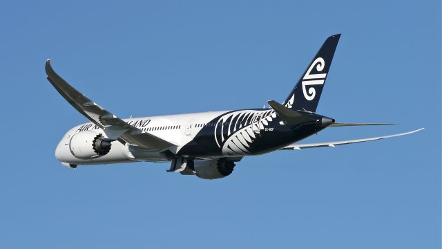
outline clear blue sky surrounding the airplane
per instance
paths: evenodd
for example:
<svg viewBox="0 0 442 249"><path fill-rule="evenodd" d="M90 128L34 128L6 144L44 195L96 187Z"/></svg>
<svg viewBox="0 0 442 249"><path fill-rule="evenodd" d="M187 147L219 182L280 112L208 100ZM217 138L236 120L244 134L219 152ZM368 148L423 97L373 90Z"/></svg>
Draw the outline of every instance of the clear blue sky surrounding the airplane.
<svg viewBox="0 0 442 249"><path fill-rule="evenodd" d="M0 248L441 247L441 1L6 1L0 27ZM318 113L400 125L305 142L424 131L245 158L218 181L54 157L86 119L49 57L122 118L240 109L284 100L335 33Z"/></svg>

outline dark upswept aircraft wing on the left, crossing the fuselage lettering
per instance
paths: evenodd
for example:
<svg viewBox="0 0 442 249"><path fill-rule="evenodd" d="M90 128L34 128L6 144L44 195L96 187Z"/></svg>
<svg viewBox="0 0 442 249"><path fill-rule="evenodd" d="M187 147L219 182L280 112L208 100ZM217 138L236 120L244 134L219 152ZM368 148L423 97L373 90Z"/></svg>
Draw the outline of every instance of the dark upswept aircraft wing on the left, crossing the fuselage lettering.
<svg viewBox="0 0 442 249"><path fill-rule="evenodd" d="M146 133L141 129L133 127L131 124L117 118L109 111L106 111L98 104L88 99L84 94L74 89L68 82L63 80L50 66L50 59L46 61L46 78L57 89L57 91L71 104L79 113L88 120L97 124L104 130L106 136L111 140L123 140L132 145L137 145L146 149L165 149L176 146L171 142Z"/></svg>

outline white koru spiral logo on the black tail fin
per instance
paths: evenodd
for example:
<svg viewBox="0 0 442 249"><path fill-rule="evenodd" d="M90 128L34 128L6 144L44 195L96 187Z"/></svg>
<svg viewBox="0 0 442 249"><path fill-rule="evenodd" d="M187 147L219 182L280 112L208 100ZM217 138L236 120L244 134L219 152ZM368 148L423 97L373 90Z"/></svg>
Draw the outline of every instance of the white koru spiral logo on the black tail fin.
<svg viewBox="0 0 442 249"><path fill-rule="evenodd" d="M324 59L321 57L316 58L314 62L310 65L309 70L307 70L307 73L305 73L304 77L302 78L302 93L304 93L305 99L309 101L313 100L316 95L316 90L312 85L324 84L325 77L327 76L327 73L310 74L314 66L316 66L316 71L318 72L323 71L325 66ZM308 93L306 86L310 86Z"/></svg>

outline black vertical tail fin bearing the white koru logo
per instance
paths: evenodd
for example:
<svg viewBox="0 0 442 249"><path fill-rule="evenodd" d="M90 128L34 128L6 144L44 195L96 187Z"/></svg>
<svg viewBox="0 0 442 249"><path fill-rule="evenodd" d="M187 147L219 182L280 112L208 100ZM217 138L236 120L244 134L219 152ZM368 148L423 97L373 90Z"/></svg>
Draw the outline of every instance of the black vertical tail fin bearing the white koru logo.
<svg viewBox="0 0 442 249"><path fill-rule="evenodd" d="M284 105L294 110L315 112L340 34L328 37L291 91Z"/></svg>

